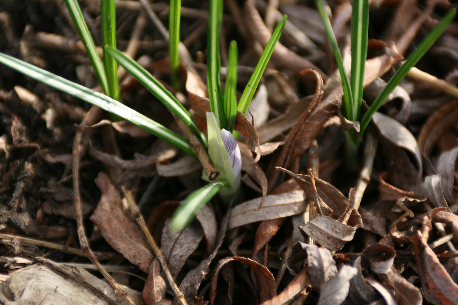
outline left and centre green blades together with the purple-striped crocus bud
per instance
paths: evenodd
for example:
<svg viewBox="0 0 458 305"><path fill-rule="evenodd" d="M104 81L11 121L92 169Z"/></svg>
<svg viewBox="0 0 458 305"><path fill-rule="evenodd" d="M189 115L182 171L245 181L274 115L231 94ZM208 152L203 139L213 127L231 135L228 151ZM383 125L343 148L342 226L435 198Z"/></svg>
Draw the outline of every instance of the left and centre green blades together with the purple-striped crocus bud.
<svg viewBox="0 0 458 305"><path fill-rule="evenodd" d="M104 94L88 89L78 83L73 83L53 73L35 67L27 62L18 60L0 53L0 62L45 83L55 89L75 96L90 104L96 105L114 115L115 119L125 119L133 124L153 133L160 139L173 144L185 153L196 156L189 141L179 134L174 133L163 125L142 115L141 113L123 105L120 101L119 80L117 76L118 64L133 75L145 88L154 94L165 106L169 108L187 127L194 133L204 147L219 176L201 189L192 192L177 209L170 226L177 231L182 230L192 221L196 213L202 209L215 194L220 192L225 200L231 200L237 194L240 186L240 150L234 139L235 118L237 111L245 113L256 91L262 74L267 67L275 44L283 31L286 16L278 23L271 39L249 80L246 88L237 103L237 44L232 41L229 46L229 63L227 78L223 90L220 81L221 59L219 54L220 28L223 15L223 0L209 1L208 16L208 56L207 56L207 84L211 112L207 113L207 137L197 127L190 113L164 86L149 72L138 65L136 61L116 49L116 14L114 0L101 1L102 20L102 48L103 61L97 54L93 38L87 28L81 9L76 0L65 0L73 22L80 38L86 48L87 55L92 63ZM172 0L169 11L169 54L171 64L172 82L175 89L180 88L178 79L179 43L180 43L180 0ZM204 175L205 177L205 175Z"/></svg>

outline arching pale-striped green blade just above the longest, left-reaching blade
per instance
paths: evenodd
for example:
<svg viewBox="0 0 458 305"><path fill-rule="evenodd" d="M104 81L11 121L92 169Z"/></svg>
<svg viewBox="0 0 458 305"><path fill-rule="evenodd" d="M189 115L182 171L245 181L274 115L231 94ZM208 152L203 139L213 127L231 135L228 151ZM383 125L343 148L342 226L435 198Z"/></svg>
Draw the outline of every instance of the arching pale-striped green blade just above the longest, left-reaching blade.
<svg viewBox="0 0 458 305"><path fill-rule="evenodd" d="M164 86L158 82L147 70L140 66L136 61L126 56L120 50L106 46L107 52L112 55L125 70L131 73L146 89L148 89L154 96L158 98L167 108L170 109L176 116L178 116L186 125L191 128L191 131L199 138L201 143L207 146L207 139L202 131L197 127L196 122L189 114L189 112L180 104L180 102L165 89Z"/></svg>

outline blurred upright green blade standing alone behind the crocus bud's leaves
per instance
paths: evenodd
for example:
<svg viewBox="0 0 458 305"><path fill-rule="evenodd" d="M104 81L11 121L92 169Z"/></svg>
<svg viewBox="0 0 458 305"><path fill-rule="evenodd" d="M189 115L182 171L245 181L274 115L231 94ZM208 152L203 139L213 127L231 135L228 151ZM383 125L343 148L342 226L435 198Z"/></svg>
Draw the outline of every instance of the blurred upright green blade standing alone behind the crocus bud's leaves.
<svg viewBox="0 0 458 305"><path fill-rule="evenodd" d="M178 67L180 58L178 45L180 44L180 16L181 0L171 0L169 8L169 56L172 83L175 90L180 90L180 79L178 78Z"/></svg>

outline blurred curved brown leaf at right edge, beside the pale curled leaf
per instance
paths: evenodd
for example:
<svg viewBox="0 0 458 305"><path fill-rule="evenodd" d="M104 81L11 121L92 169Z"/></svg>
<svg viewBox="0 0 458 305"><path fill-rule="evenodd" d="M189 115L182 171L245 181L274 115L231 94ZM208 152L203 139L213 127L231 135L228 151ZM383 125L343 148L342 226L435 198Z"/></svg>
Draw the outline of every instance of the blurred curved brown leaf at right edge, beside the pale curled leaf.
<svg viewBox="0 0 458 305"><path fill-rule="evenodd" d="M418 145L426 159L430 158L431 151L447 129L455 126L457 116L458 101L455 100L434 111L423 125L418 137Z"/></svg>

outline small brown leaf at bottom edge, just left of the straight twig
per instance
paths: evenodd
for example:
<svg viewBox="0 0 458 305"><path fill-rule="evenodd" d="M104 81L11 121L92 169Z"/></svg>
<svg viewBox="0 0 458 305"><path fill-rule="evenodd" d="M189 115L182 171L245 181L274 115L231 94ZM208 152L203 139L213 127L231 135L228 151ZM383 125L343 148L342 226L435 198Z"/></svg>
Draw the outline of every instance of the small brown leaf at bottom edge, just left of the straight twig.
<svg viewBox="0 0 458 305"><path fill-rule="evenodd" d="M148 277L143 287L143 299L146 305L154 305L165 297L165 281L161 277L161 267L158 260L154 259L149 266Z"/></svg>

